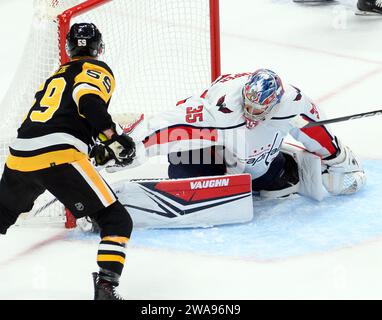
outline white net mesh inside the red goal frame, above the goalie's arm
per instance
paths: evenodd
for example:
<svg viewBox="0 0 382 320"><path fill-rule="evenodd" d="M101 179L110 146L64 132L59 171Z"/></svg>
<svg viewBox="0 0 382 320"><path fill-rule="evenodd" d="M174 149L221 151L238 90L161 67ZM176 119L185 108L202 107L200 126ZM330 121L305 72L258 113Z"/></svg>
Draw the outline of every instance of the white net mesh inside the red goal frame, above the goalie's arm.
<svg viewBox="0 0 382 320"><path fill-rule="evenodd" d="M116 78L111 113L168 110L210 81L207 0L115 0L73 21L103 34Z"/></svg>

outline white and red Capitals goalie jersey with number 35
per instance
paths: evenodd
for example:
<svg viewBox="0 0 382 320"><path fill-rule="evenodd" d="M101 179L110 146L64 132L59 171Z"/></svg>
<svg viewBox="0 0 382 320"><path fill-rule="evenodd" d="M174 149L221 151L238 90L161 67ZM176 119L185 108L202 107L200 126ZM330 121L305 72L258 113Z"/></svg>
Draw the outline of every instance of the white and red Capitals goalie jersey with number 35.
<svg viewBox="0 0 382 320"><path fill-rule="evenodd" d="M256 179L267 172L288 134L321 158L339 150L327 127L301 129L290 122L296 115L309 122L322 120L315 104L291 85L284 85L285 93L268 120L246 120L242 88L250 75L222 75L200 96L179 101L171 111L141 117L127 129L138 142L136 163L144 162L145 157L220 145L236 158L231 172L249 173Z"/></svg>

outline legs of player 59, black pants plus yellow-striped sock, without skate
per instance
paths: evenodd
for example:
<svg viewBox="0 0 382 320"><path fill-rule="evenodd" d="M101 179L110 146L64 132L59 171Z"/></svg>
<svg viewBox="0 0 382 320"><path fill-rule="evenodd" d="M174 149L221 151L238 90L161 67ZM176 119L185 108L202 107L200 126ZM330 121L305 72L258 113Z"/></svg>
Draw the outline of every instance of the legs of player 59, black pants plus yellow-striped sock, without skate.
<svg viewBox="0 0 382 320"><path fill-rule="evenodd" d="M0 181L0 233L50 191L74 217L92 217L101 229L97 264L100 278L118 285L133 222L113 191L85 158L70 164L22 172L4 167Z"/></svg>

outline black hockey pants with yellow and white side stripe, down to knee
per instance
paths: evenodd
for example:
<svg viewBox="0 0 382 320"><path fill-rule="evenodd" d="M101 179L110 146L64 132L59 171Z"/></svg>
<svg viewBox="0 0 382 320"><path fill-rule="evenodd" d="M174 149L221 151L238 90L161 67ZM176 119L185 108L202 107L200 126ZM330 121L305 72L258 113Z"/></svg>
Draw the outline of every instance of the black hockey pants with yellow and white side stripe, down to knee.
<svg viewBox="0 0 382 320"><path fill-rule="evenodd" d="M101 229L108 225L108 220L119 221L123 227L119 228L118 223L114 223L116 230L112 227L109 232L130 237L132 223L129 214L86 158L30 172L11 170L5 165L0 181L0 233L5 234L21 213L30 211L34 201L45 190L52 193L74 217L94 216ZM102 212L108 217L106 221Z"/></svg>

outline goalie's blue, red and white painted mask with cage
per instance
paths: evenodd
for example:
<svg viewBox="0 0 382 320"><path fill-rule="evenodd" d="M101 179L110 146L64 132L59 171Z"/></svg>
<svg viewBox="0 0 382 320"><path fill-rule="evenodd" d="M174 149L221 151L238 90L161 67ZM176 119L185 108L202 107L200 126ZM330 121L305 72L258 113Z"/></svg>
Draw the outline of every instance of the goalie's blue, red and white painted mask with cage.
<svg viewBox="0 0 382 320"><path fill-rule="evenodd" d="M255 71L243 87L244 117L250 122L267 119L284 94L280 77L268 69Z"/></svg>

